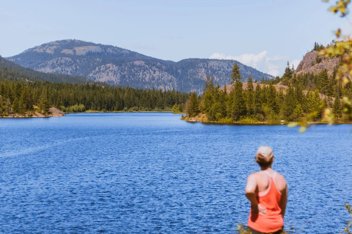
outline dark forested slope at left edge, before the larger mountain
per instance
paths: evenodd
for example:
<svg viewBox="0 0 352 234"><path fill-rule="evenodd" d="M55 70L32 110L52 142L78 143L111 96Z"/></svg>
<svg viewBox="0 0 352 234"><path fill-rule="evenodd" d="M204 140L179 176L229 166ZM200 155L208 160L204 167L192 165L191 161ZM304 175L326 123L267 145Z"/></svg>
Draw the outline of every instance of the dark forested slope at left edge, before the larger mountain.
<svg viewBox="0 0 352 234"><path fill-rule="evenodd" d="M30 68L22 67L14 62L8 61L0 56L0 79L34 81L43 80L58 83L86 83L93 80L84 76L69 76L63 74L51 74L38 72Z"/></svg>

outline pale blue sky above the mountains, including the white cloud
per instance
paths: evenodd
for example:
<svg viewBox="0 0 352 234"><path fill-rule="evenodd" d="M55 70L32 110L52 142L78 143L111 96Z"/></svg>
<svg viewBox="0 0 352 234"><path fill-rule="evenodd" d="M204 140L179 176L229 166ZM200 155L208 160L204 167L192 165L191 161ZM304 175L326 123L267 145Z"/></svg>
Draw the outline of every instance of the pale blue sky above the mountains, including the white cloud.
<svg viewBox="0 0 352 234"><path fill-rule="evenodd" d="M271 75L297 67L315 41L326 45L350 19L321 0L2 1L0 55L78 39L158 59L234 59Z"/></svg>

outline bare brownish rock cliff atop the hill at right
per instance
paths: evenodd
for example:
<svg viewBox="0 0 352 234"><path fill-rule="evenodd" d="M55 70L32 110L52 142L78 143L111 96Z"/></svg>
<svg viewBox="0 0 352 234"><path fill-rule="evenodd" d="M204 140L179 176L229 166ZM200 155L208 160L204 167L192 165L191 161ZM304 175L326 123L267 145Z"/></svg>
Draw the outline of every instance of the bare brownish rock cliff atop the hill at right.
<svg viewBox="0 0 352 234"><path fill-rule="evenodd" d="M318 51L311 51L304 55L303 60L296 68L297 75L306 73L319 74L323 69L328 70L328 75L332 75L335 66L340 62L339 58L325 58L319 55Z"/></svg>

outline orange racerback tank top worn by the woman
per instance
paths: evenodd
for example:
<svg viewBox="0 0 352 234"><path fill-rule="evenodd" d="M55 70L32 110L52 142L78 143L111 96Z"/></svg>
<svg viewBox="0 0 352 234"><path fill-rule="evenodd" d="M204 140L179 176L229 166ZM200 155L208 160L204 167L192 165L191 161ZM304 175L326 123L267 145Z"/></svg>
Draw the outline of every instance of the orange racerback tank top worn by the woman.
<svg viewBox="0 0 352 234"><path fill-rule="evenodd" d="M266 174L270 176L268 172ZM260 206L265 207L265 214L252 213L249 214L247 226L262 233L273 233L284 226L284 221L281 216L281 192L276 188L274 176L270 176L270 185L257 195Z"/></svg>

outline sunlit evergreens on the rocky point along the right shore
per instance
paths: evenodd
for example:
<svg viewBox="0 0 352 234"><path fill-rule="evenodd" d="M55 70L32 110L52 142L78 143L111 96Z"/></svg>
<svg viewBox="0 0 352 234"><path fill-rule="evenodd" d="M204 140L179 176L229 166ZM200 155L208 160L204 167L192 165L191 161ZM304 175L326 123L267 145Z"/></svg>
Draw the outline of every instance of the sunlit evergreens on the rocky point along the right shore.
<svg viewBox="0 0 352 234"><path fill-rule="evenodd" d="M208 78L202 96L192 93L186 102L188 121L219 123L264 123L276 124L304 119L308 122L324 122L323 111L330 107L336 122L351 122L343 115L343 108L351 108L344 103L342 96L352 97L352 83L346 84L335 79L337 69L331 76L326 69L319 74L296 75L289 65L283 76L263 81L259 85L251 76L243 88L241 74L235 63L231 78L233 87L215 86ZM254 89L255 86L255 89ZM283 88L285 87L285 89Z"/></svg>

